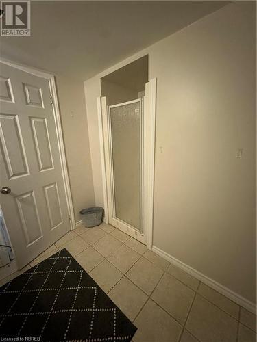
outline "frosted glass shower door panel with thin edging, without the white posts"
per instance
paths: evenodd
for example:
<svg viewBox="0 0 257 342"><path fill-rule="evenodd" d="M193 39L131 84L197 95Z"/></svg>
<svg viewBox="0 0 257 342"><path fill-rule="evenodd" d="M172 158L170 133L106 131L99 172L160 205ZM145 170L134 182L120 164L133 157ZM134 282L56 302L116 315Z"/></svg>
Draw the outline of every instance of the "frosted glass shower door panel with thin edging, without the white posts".
<svg viewBox="0 0 257 342"><path fill-rule="evenodd" d="M109 113L114 218L143 233L142 101L110 106Z"/></svg>

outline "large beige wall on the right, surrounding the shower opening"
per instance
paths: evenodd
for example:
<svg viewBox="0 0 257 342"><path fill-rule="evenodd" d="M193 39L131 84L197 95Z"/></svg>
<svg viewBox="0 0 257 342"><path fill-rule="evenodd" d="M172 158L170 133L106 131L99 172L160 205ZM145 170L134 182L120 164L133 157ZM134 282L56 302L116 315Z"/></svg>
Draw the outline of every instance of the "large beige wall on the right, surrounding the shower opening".
<svg viewBox="0 0 257 342"><path fill-rule="evenodd" d="M85 82L94 185L103 202L95 130L100 77L149 53L149 79L157 77L154 246L252 302L255 12L254 2L226 5Z"/></svg>

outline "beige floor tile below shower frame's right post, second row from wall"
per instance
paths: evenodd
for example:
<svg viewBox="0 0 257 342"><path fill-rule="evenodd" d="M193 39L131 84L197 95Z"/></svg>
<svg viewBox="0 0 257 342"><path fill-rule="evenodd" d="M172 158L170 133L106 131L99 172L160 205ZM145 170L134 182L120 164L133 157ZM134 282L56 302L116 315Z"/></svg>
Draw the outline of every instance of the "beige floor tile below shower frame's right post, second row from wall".
<svg viewBox="0 0 257 342"><path fill-rule="evenodd" d="M127 272L130 278L140 289L150 294L156 287L164 272L162 269L151 263L145 258L140 258L135 265Z"/></svg>

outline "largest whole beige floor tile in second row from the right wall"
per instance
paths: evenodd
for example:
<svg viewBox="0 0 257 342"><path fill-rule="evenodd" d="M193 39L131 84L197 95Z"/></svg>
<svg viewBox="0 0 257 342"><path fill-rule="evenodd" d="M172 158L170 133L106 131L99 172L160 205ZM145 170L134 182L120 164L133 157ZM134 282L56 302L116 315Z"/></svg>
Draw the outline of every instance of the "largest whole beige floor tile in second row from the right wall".
<svg viewBox="0 0 257 342"><path fill-rule="evenodd" d="M184 324L193 302L195 291L165 273L151 294L151 298Z"/></svg>

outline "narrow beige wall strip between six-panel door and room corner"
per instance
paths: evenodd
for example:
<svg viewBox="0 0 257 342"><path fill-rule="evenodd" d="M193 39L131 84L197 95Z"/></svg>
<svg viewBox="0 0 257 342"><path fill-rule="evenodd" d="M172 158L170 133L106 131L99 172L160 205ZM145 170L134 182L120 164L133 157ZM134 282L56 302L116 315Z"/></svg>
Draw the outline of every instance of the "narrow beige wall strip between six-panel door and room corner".
<svg viewBox="0 0 257 342"><path fill-rule="evenodd" d="M78 222L79 211L95 205L84 87L82 81L70 77L58 76L56 83L73 209Z"/></svg>

